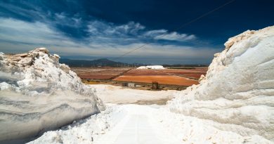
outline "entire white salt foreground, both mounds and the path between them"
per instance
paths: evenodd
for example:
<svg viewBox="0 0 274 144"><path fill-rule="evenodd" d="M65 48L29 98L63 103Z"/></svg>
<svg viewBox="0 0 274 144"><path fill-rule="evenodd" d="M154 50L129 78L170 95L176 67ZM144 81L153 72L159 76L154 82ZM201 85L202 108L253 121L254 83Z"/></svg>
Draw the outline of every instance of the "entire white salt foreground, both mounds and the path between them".
<svg viewBox="0 0 274 144"><path fill-rule="evenodd" d="M228 39L185 91L86 86L46 48L1 53L0 143L274 143L273 41Z"/></svg>

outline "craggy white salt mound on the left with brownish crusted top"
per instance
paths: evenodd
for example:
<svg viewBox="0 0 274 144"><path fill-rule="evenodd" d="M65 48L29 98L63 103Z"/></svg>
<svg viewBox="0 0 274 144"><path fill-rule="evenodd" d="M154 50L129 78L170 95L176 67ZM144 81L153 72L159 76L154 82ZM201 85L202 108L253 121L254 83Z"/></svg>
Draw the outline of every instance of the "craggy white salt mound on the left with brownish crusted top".
<svg viewBox="0 0 274 144"><path fill-rule="evenodd" d="M93 89L46 48L0 53L0 143L56 129L104 110Z"/></svg>

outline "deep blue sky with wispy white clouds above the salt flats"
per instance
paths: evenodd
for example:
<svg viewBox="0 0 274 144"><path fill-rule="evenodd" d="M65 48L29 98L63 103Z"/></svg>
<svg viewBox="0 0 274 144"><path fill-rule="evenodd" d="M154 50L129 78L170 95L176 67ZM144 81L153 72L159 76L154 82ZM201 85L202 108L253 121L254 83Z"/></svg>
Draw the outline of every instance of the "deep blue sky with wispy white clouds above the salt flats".
<svg viewBox="0 0 274 144"><path fill-rule="evenodd" d="M273 25L274 1L0 1L0 51L46 47L62 58L151 64L209 64L229 37Z"/></svg>

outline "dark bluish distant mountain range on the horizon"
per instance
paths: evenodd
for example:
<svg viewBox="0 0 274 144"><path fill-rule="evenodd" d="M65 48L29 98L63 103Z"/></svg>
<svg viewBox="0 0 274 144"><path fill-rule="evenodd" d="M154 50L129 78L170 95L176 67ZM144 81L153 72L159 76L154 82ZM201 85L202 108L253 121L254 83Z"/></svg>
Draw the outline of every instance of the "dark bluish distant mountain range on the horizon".
<svg viewBox="0 0 274 144"><path fill-rule="evenodd" d="M143 64L128 64L115 62L112 60L108 60L107 58L101 58L98 60L72 60L67 58L60 58L60 63L65 63L70 67L133 67L133 66L141 66Z"/></svg>

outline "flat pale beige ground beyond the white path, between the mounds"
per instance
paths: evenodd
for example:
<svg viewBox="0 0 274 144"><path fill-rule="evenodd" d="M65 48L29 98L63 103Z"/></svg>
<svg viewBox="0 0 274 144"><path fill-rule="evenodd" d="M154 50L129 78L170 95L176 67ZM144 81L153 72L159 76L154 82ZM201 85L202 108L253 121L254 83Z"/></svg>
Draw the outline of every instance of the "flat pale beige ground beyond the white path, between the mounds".
<svg viewBox="0 0 274 144"><path fill-rule="evenodd" d="M107 84L90 85L96 89L98 97L104 103L115 104L142 104L142 105L165 105L167 100L171 100L176 96L178 91L145 91L137 89L126 89L121 86L111 86Z"/></svg>

